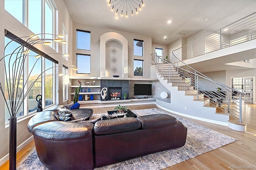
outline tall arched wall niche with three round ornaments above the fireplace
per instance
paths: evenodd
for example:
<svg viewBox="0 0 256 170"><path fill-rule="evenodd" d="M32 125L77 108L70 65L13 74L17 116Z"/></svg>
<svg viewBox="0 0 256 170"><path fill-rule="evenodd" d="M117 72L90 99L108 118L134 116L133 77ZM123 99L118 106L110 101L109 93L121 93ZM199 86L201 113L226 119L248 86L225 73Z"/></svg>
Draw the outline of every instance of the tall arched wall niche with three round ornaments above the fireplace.
<svg viewBox="0 0 256 170"><path fill-rule="evenodd" d="M113 41L111 43L111 41ZM106 44L110 42L110 44L114 45L114 44L119 44L120 48L117 48L118 45L114 45L117 48L117 50L122 50L122 51L118 51L118 56L109 56L110 51L110 46ZM107 59L106 60L106 55ZM120 56L121 55L121 56ZM121 78L127 78L128 77L128 41L127 39L119 34L119 33L115 33L115 32L108 32L108 33L104 33L103 35L100 36L100 77L110 77L112 76L113 73L110 73L110 66L114 66L110 64L110 59L112 59L112 57L116 57L118 60L121 60L118 63L118 65L116 65L117 69L120 69L121 71L118 72L118 74ZM112 63L114 64L114 63Z"/></svg>

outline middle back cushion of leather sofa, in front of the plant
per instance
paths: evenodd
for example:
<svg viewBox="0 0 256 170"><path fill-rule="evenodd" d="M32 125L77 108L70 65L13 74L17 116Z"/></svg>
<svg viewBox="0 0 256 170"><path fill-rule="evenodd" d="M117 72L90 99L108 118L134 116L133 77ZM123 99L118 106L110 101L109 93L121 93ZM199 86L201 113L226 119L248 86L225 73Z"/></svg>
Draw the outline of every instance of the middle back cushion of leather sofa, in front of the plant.
<svg viewBox="0 0 256 170"><path fill-rule="evenodd" d="M139 129L141 123L135 117L122 117L117 119L105 119L97 121L94 125L94 133L97 135L121 133Z"/></svg>

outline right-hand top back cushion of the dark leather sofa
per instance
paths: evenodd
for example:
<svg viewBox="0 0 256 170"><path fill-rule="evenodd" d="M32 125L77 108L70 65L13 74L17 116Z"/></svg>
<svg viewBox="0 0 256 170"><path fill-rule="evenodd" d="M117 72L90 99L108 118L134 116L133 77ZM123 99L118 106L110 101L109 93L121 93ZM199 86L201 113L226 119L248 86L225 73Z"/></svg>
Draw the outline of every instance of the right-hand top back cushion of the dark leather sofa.
<svg viewBox="0 0 256 170"><path fill-rule="evenodd" d="M137 117L141 121L142 129L157 129L177 124L177 119L167 114L145 115Z"/></svg>

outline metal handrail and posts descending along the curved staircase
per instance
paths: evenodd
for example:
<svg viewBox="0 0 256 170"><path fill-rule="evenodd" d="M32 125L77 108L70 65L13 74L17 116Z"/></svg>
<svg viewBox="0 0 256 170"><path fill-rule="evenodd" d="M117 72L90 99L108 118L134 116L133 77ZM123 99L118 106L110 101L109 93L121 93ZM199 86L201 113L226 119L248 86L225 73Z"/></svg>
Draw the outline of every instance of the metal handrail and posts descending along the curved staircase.
<svg viewBox="0 0 256 170"><path fill-rule="evenodd" d="M216 82L216 81L214 81L214 80L212 80L211 78L209 78L209 77L207 77L207 76L205 76L204 74L202 74L202 73L200 73L200 72L198 72L197 70L195 70L194 68L192 68L192 67L190 67L190 66L188 66L186 63L184 63L184 62L182 62L182 61L180 61L180 59L178 59L175 55L174 55L174 53L172 53L172 62L174 61L173 59L175 58L176 59L176 63L177 63L177 65L175 64L175 63L170 63L170 62L168 62L168 61L165 61L165 60L163 60L162 59L162 57L159 57L156 53L152 53L151 54L152 55L152 63L156 63L156 65L157 65L157 68L158 68L158 72L159 72L159 64L162 64L162 63L167 63L167 64L169 64L169 79L170 79L170 75L171 75L171 72L170 72L170 65L172 65L172 66L174 66L174 67L176 67L176 69L177 69L177 71L178 72L182 72L182 74L184 74L185 76L190 76L189 74L191 74L193 77L192 78L195 78L195 80L194 80L194 88L196 89L196 95L197 95L197 100L198 100L198 94L199 94L199 88L198 88L198 79L199 78L201 78L200 80L203 80L203 81L205 81L205 84L204 85L206 85L206 87L208 87L209 88L209 86L207 86L207 83L206 83L206 80L208 80L208 81L210 81L210 82L212 82L212 83L215 83L215 84L218 84L218 86L220 86L220 87L222 87L222 88L224 88L225 90L226 90L226 92L228 92L228 102L227 102L227 104L228 104L228 106L227 106L227 109L228 109L228 113L230 113L230 111L234 111L234 112L237 112L238 113L238 111L236 111L235 109L231 109L230 108L230 94L231 94L231 96L232 96L232 94L234 93L234 92L237 92L237 93L239 93L239 105L237 105L237 106L239 106L239 115L237 115L236 113L234 113L235 115L237 115L238 116L238 118L239 118L239 121L240 122L242 122L242 95L246 95L245 93L242 93L242 92L240 92L240 91L238 91L238 90L236 90L236 89L234 89L234 88L231 88L231 87L229 87L229 86L226 86L225 84L221 84L221 83L219 83L219 82ZM154 55L154 60L153 60L153 55ZM182 64L182 66L186 66L186 67L188 67L190 70L187 70L187 69L185 69L185 68L182 68L181 66L179 66L179 63L181 63ZM181 65L180 64L180 65ZM181 71L182 70L182 71ZM192 72L192 71L194 71L194 72ZM189 73L189 74L188 74ZM190 77L191 78L191 77ZM205 80L204 80L205 79ZM196 81L197 81L197 83L196 83ZM202 82L201 82L202 83ZM226 95L225 95L225 97L222 97L222 94L221 94L221 92L218 92L218 91L216 91L216 93L215 94L211 94L211 92L208 92L208 94L206 95L206 96L208 96L209 98L210 98L210 96L211 95L216 95L216 94L218 94L219 95L219 98L220 99L224 99L224 100L226 100ZM212 96L211 96L212 97ZM218 98L216 98L216 97L212 97L212 98L214 98L214 99L217 99L218 100ZM218 103L218 102L217 102Z"/></svg>

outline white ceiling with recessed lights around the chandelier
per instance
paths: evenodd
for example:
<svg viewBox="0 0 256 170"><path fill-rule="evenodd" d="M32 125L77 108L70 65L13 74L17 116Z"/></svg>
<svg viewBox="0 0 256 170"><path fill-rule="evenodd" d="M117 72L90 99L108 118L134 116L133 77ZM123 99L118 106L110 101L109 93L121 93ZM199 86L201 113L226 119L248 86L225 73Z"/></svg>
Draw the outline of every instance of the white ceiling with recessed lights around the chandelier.
<svg viewBox="0 0 256 170"><path fill-rule="evenodd" d="M73 22L148 35L169 45L202 29L215 31L256 11L256 0L143 0L138 15L114 18L106 0L64 0ZM208 21L204 19L208 18ZM168 20L172 22L167 23ZM178 34L182 30L187 35ZM164 41L164 37L167 41Z"/></svg>

